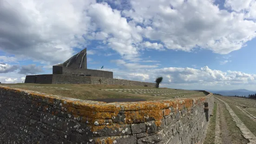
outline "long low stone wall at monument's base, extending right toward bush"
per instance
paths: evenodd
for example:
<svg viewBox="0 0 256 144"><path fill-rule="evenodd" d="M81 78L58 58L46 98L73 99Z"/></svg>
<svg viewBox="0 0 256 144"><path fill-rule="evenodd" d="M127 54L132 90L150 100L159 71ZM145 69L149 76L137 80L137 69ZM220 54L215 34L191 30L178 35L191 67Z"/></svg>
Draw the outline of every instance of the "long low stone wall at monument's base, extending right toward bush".
<svg viewBox="0 0 256 144"><path fill-rule="evenodd" d="M147 85L154 87L155 83L132 81L125 79L111 79L111 78L98 78L98 77L84 77L53 74L53 84L106 84L106 85Z"/></svg>

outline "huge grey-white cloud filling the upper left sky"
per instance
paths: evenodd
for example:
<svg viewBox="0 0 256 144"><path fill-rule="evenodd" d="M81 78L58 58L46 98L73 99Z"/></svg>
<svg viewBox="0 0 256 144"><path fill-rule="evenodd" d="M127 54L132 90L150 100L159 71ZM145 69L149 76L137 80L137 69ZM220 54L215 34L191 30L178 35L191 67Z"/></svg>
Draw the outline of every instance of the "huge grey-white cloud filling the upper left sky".
<svg viewBox="0 0 256 144"><path fill-rule="evenodd" d="M1 0L0 49L56 64L85 44L85 9L94 0Z"/></svg>

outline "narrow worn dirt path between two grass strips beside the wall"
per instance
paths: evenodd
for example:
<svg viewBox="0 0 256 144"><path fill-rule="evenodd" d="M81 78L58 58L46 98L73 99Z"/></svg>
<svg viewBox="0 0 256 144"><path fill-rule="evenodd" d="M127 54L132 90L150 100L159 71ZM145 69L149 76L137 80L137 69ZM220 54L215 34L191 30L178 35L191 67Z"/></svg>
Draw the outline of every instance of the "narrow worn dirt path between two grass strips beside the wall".
<svg viewBox="0 0 256 144"><path fill-rule="evenodd" d="M219 108L219 120L220 120L220 131L221 131L221 141L219 144L232 144L230 138L230 131L226 123L227 116L224 115L225 105L221 102L218 103Z"/></svg>

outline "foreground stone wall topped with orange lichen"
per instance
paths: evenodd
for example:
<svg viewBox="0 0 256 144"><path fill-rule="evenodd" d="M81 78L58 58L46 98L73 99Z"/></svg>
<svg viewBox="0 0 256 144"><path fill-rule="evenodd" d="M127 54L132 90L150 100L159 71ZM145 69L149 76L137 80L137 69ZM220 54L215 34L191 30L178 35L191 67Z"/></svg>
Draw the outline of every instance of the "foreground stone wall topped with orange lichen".
<svg viewBox="0 0 256 144"><path fill-rule="evenodd" d="M0 144L202 144L213 101L106 104L0 87Z"/></svg>

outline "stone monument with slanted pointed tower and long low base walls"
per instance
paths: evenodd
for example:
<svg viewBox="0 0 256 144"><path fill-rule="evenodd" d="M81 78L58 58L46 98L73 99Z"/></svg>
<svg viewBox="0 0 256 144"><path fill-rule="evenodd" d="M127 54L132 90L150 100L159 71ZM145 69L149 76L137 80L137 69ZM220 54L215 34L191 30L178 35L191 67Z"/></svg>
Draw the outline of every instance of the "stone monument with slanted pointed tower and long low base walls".
<svg viewBox="0 0 256 144"><path fill-rule="evenodd" d="M64 63L53 65L53 74L27 75L25 83L155 86L155 83L113 79L113 72L87 69L86 48Z"/></svg>

